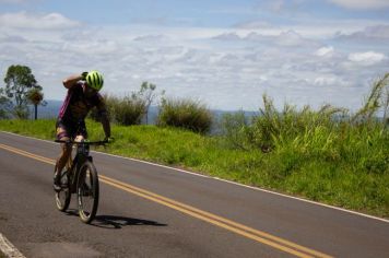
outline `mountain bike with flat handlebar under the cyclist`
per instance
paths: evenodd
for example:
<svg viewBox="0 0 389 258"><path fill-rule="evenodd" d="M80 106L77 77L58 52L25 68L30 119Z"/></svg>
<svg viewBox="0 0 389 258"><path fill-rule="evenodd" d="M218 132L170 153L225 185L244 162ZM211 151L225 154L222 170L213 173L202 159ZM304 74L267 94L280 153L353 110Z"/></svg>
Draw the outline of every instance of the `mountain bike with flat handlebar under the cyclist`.
<svg viewBox="0 0 389 258"><path fill-rule="evenodd" d="M55 142L76 146L74 159L71 156L61 172L61 189L56 191L58 210L64 212L69 208L72 194L76 194L79 215L82 222L91 223L96 215L98 206L98 175L90 155L90 145L105 145L108 141L61 141Z"/></svg>

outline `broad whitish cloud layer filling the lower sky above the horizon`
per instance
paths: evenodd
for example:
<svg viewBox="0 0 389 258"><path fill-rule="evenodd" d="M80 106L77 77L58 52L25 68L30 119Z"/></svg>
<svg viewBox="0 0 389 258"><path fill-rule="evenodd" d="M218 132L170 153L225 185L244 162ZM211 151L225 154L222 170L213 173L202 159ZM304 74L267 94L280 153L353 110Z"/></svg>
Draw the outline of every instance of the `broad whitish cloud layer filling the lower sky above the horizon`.
<svg viewBox="0 0 389 258"><path fill-rule="evenodd" d="M42 21L47 15L22 16ZM281 105L290 99L297 105L330 102L355 108L364 83L385 71L388 60L387 46L372 47L369 52L352 50L353 44L344 49L335 40L328 45L313 37L309 27L308 33L284 27L251 31L139 24L19 27L1 27L0 68L30 66L45 96L56 99L63 98L60 81L64 77L97 69L105 74L105 91L114 94L129 94L142 81L150 81L167 95L198 97L212 108L257 109L264 92ZM366 69L366 63L377 66Z"/></svg>

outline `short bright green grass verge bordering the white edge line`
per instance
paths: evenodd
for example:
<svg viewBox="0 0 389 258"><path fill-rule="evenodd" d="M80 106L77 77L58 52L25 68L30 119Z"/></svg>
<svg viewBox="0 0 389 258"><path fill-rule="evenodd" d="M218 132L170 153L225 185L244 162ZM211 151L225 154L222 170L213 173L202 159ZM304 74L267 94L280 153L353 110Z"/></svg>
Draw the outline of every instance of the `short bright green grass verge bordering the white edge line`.
<svg viewBox="0 0 389 258"><path fill-rule="evenodd" d="M87 120L87 128L91 140L104 137L99 124ZM0 130L52 140L55 120L0 120ZM116 141L99 151L389 218L389 144L377 133L369 132L367 146L372 150L361 143L365 150L359 152L355 148L347 152L351 143L344 139L340 154L306 151L293 146L295 142L262 153L232 150L221 138L175 128L114 125Z"/></svg>

